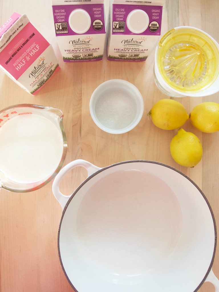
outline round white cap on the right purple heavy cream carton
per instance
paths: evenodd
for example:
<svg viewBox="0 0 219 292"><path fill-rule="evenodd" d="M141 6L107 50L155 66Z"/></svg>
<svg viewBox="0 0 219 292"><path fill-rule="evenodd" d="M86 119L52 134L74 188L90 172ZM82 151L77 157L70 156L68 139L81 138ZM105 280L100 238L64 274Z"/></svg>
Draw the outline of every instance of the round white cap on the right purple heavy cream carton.
<svg viewBox="0 0 219 292"><path fill-rule="evenodd" d="M128 14L127 27L135 33L141 34L149 25L149 17L147 13L141 9L135 9Z"/></svg>

